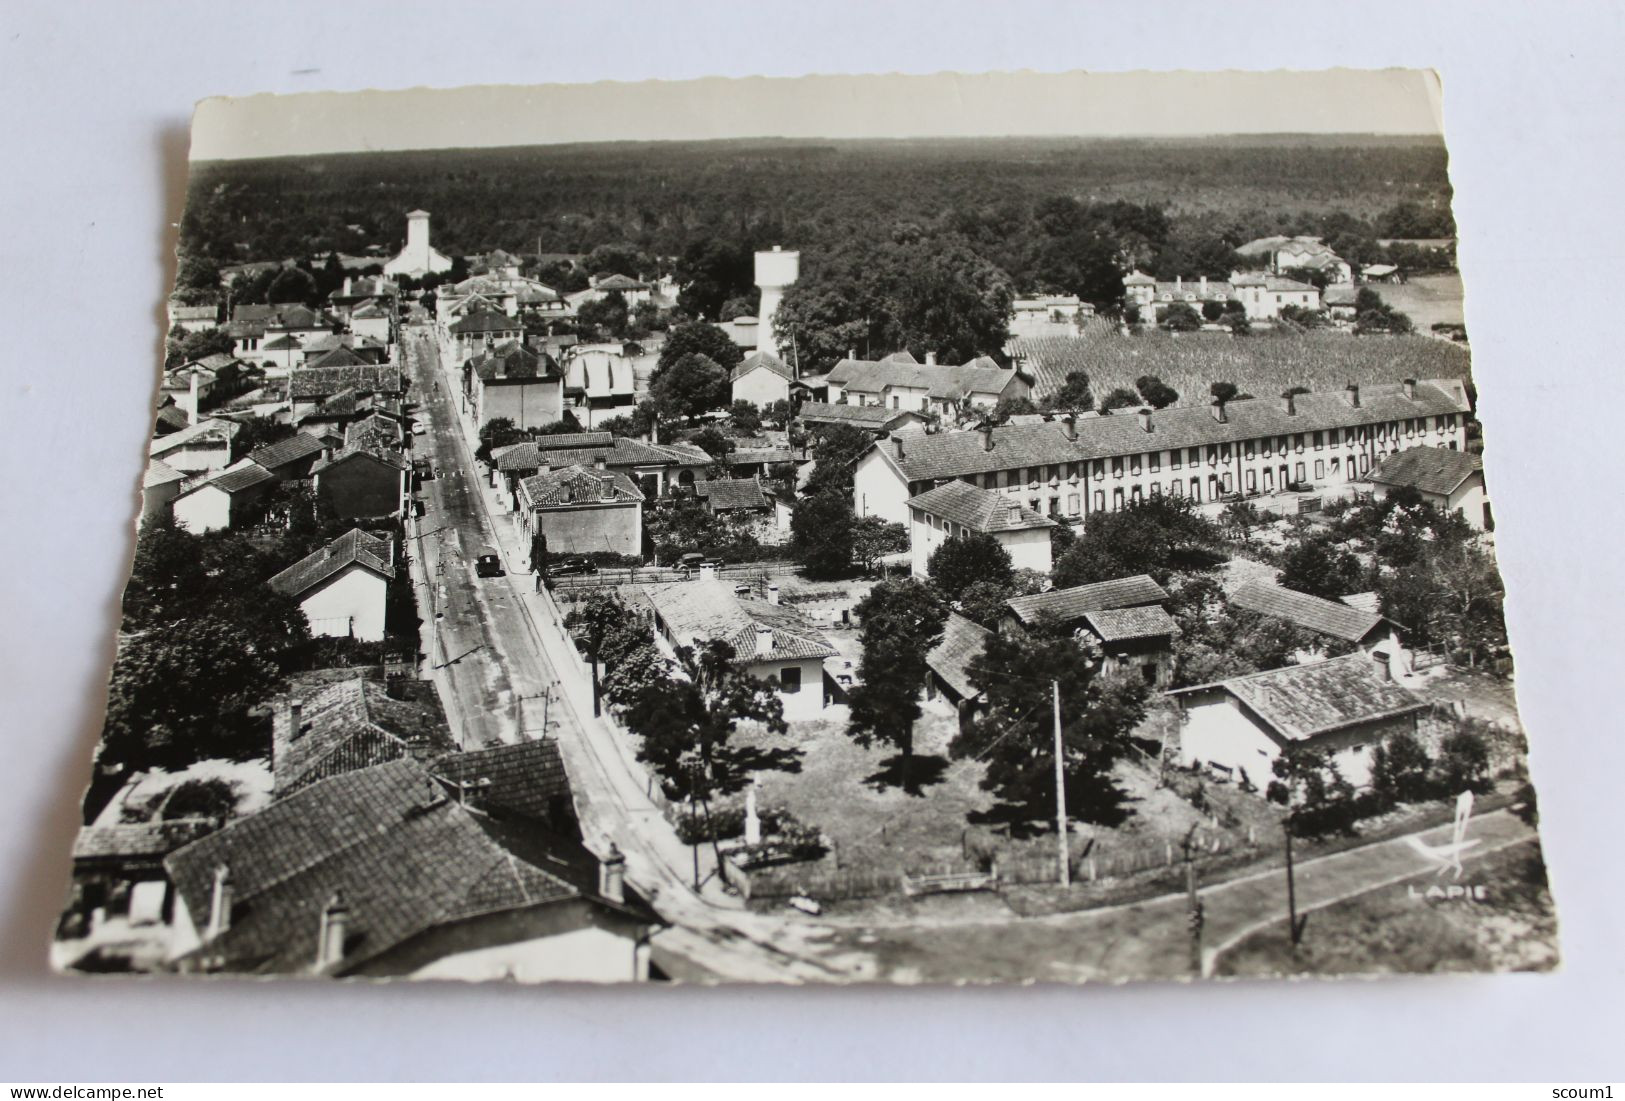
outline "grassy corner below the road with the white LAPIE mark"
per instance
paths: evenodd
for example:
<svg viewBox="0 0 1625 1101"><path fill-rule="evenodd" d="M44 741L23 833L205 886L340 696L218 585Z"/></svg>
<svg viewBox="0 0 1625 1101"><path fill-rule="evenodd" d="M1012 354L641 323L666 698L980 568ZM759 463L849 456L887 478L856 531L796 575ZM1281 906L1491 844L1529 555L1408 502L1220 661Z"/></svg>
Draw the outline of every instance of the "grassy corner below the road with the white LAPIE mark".
<svg viewBox="0 0 1625 1101"><path fill-rule="evenodd" d="M1310 914L1294 955L1285 922L1225 953L1224 976L1549 971L1557 966L1557 913L1545 887L1539 843L1466 861L1458 887L1484 888L1479 901L1417 898L1422 875Z"/></svg>

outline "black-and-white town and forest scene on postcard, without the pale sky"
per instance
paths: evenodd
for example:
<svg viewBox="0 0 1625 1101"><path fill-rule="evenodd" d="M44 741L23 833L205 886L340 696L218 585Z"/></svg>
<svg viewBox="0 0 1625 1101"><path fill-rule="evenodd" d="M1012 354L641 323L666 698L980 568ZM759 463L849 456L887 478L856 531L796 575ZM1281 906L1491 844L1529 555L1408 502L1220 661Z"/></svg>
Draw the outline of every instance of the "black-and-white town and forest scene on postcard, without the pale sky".
<svg viewBox="0 0 1625 1101"><path fill-rule="evenodd" d="M1555 968L1443 133L1242 122L195 146L52 965Z"/></svg>

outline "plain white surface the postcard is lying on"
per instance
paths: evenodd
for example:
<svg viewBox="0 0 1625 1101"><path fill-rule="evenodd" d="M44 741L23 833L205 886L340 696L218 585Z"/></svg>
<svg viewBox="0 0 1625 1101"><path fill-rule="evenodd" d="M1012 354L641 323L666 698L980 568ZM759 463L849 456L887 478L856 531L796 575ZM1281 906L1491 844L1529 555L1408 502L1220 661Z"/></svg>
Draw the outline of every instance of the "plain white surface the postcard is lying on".
<svg viewBox="0 0 1625 1101"><path fill-rule="evenodd" d="M0 8L0 1078L1618 1075L1617 5ZM1090 989L55 979L44 947L132 550L190 104L648 76L1435 65L1555 976ZM1019 127L1012 127L1019 130Z"/></svg>

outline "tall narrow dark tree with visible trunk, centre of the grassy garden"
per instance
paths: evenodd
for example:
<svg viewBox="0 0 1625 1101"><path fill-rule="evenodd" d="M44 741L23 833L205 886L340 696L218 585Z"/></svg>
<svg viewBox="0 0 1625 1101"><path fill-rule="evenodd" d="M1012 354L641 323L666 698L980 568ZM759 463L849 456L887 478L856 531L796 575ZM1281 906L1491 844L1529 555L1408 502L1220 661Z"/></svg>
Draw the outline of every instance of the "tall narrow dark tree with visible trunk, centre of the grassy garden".
<svg viewBox="0 0 1625 1101"><path fill-rule="evenodd" d="M942 637L947 609L930 585L913 578L881 581L856 607L863 624L860 684L852 690L847 732L868 749L895 745L902 758L902 788L913 781L913 724L920 718L920 689L930 672L926 654Z"/></svg>

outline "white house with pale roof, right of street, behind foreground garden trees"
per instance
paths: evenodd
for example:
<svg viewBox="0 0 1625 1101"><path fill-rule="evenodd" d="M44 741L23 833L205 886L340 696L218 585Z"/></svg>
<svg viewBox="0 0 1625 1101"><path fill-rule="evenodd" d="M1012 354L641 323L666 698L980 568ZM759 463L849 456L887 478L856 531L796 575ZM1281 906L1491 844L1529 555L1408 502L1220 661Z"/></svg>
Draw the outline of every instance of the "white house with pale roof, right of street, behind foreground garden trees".
<svg viewBox="0 0 1625 1101"><path fill-rule="evenodd" d="M837 651L795 609L744 599L715 578L642 586L653 609L655 635L668 646L697 646L720 638L734 664L772 680L786 719L817 718L829 705L824 661Z"/></svg>

